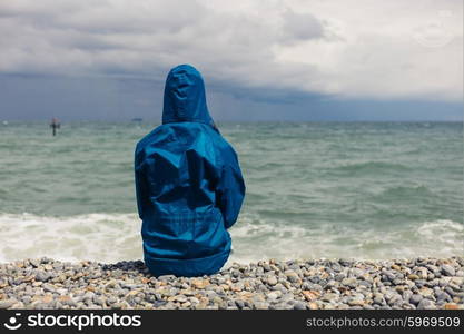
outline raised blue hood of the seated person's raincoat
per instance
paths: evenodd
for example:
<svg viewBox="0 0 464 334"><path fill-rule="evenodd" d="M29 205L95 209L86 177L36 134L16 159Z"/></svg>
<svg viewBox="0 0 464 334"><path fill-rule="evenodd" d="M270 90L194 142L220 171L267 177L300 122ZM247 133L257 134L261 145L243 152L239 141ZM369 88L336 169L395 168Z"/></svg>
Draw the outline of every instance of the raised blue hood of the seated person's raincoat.
<svg viewBox="0 0 464 334"><path fill-rule="evenodd" d="M162 124L179 121L214 126L206 105L203 77L190 65L175 67L166 79Z"/></svg>

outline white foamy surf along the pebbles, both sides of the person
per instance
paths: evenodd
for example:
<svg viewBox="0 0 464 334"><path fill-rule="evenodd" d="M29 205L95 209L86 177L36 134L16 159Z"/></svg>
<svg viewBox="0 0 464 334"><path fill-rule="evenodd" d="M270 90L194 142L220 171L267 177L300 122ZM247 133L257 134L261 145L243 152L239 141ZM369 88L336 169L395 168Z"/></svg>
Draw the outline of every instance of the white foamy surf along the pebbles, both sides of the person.
<svg viewBox="0 0 464 334"><path fill-rule="evenodd" d="M136 214L42 217L0 215L0 262L30 257L112 263L142 258L141 222ZM244 213L230 229L233 262L265 258L407 258L463 256L464 226L438 219L382 229L346 224L270 224Z"/></svg>

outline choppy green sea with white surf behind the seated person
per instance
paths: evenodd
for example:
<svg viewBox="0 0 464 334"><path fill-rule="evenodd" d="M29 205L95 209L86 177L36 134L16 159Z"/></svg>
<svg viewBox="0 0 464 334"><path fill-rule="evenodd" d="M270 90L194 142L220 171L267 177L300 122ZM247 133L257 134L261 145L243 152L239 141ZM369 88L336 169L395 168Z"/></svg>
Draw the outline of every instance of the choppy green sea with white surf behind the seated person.
<svg viewBox="0 0 464 334"><path fill-rule="evenodd" d="M0 262L141 259L134 149L156 126L0 122ZM464 256L462 122L218 127L247 188L228 264Z"/></svg>

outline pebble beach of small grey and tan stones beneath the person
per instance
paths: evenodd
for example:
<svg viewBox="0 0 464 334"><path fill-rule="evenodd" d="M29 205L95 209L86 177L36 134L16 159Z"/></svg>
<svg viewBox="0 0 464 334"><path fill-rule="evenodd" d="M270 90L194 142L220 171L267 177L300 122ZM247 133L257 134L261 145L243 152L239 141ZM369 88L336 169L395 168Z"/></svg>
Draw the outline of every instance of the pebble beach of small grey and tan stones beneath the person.
<svg viewBox="0 0 464 334"><path fill-rule="evenodd" d="M190 278L43 257L0 263L0 308L464 310L464 257L268 259Z"/></svg>

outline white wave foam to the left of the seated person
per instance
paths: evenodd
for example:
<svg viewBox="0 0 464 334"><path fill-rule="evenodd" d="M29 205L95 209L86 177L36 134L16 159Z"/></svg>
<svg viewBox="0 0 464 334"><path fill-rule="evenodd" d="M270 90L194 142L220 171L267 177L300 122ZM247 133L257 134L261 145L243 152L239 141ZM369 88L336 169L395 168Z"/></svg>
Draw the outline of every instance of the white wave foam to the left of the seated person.
<svg viewBox="0 0 464 334"><path fill-rule="evenodd" d="M142 256L136 214L0 215L0 262L29 257L117 262Z"/></svg>

